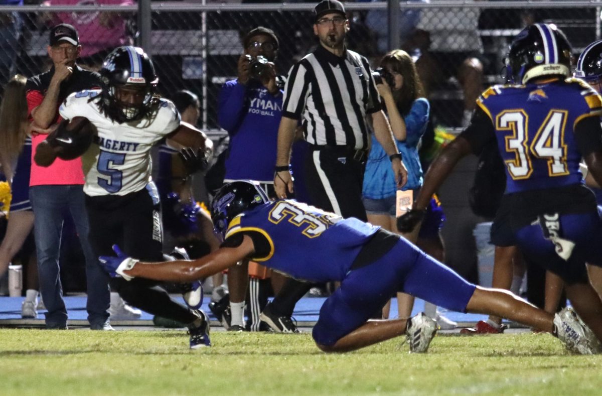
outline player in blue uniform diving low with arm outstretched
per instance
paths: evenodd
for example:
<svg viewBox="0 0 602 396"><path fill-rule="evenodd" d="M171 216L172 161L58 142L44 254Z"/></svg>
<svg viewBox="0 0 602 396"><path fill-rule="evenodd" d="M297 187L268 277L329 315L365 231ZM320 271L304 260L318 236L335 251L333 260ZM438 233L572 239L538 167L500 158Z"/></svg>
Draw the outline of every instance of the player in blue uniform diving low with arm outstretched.
<svg viewBox="0 0 602 396"><path fill-rule="evenodd" d="M380 227L295 200L270 202L258 184L247 181L222 187L212 209L216 230L225 237L217 252L194 261L150 264L119 255L117 249L119 257L103 256L101 264L111 276L181 282L252 259L297 279L341 282L324 302L313 329L318 347L329 352L404 334L411 351L425 352L436 331L435 321L426 315L368 321L394 292L404 291L454 311L495 314L553 332L574 350L591 353L591 332L576 317L554 316L507 291L468 283Z"/></svg>

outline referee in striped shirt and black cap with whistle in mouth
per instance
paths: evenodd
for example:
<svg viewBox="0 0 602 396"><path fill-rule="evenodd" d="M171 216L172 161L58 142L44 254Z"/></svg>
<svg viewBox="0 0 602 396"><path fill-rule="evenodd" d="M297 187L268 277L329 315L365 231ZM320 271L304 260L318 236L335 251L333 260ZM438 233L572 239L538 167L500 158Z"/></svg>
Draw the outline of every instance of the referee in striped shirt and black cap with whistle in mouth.
<svg viewBox="0 0 602 396"><path fill-rule="evenodd" d="M377 140L391 158L399 187L408 180L408 171L381 110L368 61L345 48L349 21L343 4L322 0L314 14L314 34L320 45L293 66L285 85L274 176L276 197L293 193L289 161L297 122L303 118L303 137L311 147L305 161L305 182L312 205L367 221L362 203L370 140L367 114ZM309 283L288 280L265 307L261 320L276 332L296 332L290 317L309 288Z"/></svg>

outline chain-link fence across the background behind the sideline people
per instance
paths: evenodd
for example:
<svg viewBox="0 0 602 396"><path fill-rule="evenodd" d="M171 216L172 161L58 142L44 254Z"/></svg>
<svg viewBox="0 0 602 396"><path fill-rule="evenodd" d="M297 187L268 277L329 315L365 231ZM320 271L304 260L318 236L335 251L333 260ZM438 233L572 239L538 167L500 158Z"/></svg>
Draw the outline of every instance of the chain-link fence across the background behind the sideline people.
<svg viewBox="0 0 602 396"><path fill-rule="evenodd" d="M597 6L602 3L538 1L533 7L521 1L426 1L401 2L394 30L399 31L401 47L417 59L436 122L448 127L465 122L486 85L503 81L500 72L507 46L526 24L556 23L576 56L600 37ZM276 66L282 74L317 44L312 31L314 3L151 3L150 29L142 32L136 5L51 3L0 7L0 85L17 72L32 76L46 70L49 27L72 23L83 46L81 64L88 67L98 67L115 46L145 43L160 75L161 93L169 97L187 88L199 94L200 126L210 131L219 130L217 96L223 82L236 76L244 32L259 25L276 32L280 41ZM347 2L346 7L351 26L348 46L376 67L389 49L387 3Z"/></svg>

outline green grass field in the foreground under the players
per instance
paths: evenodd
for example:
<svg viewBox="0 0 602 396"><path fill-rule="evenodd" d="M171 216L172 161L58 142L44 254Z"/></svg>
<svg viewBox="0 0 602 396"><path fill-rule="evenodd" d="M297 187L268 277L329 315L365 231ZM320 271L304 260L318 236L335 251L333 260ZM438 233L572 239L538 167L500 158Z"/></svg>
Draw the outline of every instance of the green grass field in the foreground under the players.
<svg viewBox="0 0 602 396"><path fill-rule="evenodd" d="M568 354L547 334L403 338L324 354L311 335L182 330L0 329L1 395L602 394L602 356Z"/></svg>

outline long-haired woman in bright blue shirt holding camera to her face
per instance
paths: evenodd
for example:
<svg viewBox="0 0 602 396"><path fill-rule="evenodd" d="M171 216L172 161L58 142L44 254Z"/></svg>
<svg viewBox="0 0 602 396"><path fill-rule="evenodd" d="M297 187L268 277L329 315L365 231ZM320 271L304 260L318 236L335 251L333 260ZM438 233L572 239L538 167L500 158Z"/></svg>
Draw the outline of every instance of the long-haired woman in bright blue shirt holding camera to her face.
<svg viewBox="0 0 602 396"><path fill-rule="evenodd" d="M423 182L418 148L429 122L429 101L424 97L414 61L407 52L400 49L389 52L380 61L380 67L385 73L393 76L394 80L394 85L389 87L385 78L382 78L382 82L377 84L376 88L385 103L397 148L402 153L403 163L408 169L408 183L402 190L412 190L416 196ZM366 164L363 185L363 200L368 222L397 232L412 243L424 246L425 249L432 247L433 249L429 249L430 252L427 250L427 253L442 261L443 247L439 229L444 215L438 200L433 197L423 227L415 227L411 234L400 233L396 224L397 185L389 162L385 150L372 135L372 147ZM420 244L421 241L424 241L424 244ZM399 317L409 317L414 306L414 297L398 293L397 305ZM388 317L388 306L385 307L383 316ZM433 312L432 316L438 319L438 323L440 322L436 312ZM444 323L444 321L447 319L441 318L442 327L455 327L453 323L449 321ZM445 326L446 324L449 326Z"/></svg>

